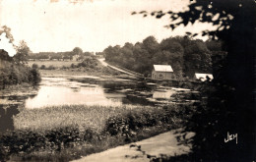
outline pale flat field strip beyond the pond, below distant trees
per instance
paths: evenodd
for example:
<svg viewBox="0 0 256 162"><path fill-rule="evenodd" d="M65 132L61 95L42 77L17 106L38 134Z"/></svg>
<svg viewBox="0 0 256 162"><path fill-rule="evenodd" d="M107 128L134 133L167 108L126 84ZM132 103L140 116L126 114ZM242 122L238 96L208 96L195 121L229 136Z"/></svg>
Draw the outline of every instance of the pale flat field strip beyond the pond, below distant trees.
<svg viewBox="0 0 256 162"><path fill-rule="evenodd" d="M78 63L81 63L79 61L29 61L29 67L32 67L32 64L37 64L38 67L41 67L42 65L45 65L45 67L53 66L55 68L61 68L63 66L70 67L71 64L77 65Z"/></svg>

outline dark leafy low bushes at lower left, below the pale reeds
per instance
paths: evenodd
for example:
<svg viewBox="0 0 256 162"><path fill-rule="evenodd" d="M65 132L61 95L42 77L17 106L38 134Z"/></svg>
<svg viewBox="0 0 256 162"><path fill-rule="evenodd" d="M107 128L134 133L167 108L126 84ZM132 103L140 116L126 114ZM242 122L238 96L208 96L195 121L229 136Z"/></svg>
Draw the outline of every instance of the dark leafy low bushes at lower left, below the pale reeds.
<svg viewBox="0 0 256 162"><path fill-rule="evenodd" d="M46 132L13 131L0 135L0 160L11 154L31 153L36 150L60 151L83 141L91 141L93 131L81 132L78 127L64 127Z"/></svg>

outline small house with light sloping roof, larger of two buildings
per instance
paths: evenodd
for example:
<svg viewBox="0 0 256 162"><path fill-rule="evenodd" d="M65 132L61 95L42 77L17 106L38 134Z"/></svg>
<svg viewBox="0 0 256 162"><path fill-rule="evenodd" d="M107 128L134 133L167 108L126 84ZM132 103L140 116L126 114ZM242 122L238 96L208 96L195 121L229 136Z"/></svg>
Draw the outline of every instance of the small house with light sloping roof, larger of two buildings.
<svg viewBox="0 0 256 162"><path fill-rule="evenodd" d="M170 65L154 65L152 71L153 80L171 80L174 78L175 76Z"/></svg>

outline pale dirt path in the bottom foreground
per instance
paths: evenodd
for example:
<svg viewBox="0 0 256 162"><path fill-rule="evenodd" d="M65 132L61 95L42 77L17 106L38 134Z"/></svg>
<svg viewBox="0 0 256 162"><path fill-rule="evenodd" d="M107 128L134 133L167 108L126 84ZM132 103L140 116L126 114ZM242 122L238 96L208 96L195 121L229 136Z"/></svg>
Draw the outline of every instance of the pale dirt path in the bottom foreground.
<svg viewBox="0 0 256 162"><path fill-rule="evenodd" d="M176 131L156 135L136 143L118 146L103 152L92 154L74 162L149 162L149 155L169 156L185 154L190 151L190 145L178 145ZM193 133L185 135L186 138ZM148 157L147 157L148 156Z"/></svg>

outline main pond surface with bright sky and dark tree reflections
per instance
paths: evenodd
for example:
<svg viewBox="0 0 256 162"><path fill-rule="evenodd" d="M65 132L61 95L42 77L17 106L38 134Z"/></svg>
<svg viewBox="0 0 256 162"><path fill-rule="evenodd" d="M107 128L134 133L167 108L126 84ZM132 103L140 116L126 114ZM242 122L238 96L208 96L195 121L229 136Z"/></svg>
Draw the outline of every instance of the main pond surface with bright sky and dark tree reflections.
<svg viewBox="0 0 256 162"><path fill-rule="evenodd" d="M156 83L99 77L43 78L35 97L26 100L26 108L63 104L119 106L122 104L154 105L168 102L177 90L159 87ZM189 89L187 89L189 90ZM165 103L165 102L164 102Z"/></svg>

